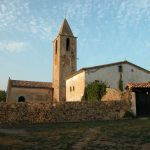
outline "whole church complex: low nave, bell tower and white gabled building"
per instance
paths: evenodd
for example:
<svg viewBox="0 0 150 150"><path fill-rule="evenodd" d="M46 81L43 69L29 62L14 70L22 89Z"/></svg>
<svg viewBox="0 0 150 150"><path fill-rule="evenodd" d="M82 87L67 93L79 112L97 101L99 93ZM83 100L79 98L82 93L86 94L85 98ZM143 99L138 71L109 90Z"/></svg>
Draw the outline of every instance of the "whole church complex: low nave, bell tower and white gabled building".
<svg viewBox="0 0 150 150"><path fill-rule="evenodd" d="M118 89L122 77L123 88L129 82L150 81L150 71L128 61L82 68L77 71L77 37L64 19L53 50L53 82L8 80L7 102L65 102L81 101L86 85L104 81Z"/></svg>

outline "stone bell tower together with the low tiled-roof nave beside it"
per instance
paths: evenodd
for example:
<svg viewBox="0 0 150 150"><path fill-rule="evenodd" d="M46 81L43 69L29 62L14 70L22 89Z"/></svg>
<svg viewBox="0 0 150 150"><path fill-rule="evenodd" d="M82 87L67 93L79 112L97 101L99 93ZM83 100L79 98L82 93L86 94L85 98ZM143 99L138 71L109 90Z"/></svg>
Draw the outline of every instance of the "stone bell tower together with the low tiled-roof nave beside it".
<svg viewBox="0 0 150 150"><path fill-rule="evenodd" d="M64 102L66 77L76 72L76 42L64 19L54 40L53 82L12 80L7 86L7 102Z"/></svg>

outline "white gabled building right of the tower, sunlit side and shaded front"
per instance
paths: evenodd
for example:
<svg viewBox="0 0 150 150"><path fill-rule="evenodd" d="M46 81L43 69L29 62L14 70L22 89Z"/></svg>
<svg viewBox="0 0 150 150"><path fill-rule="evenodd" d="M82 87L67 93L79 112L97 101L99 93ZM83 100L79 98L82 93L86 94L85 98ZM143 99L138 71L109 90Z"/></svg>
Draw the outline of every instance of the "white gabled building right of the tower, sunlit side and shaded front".
<svg viewBox="0 0 150 150"><path fill-rule="evenodd" d="M121 72L119 70L121 66ZM91 82L98 80L106 82L110 88L118 89L120 74L122 74L123 89L129 82L148 82L150 72L130 62L123 61L102 66L83 68L75 75L66 80L67 101L81 101L84 88ZM81 78L82 76L82 78ZM75 82L75 79L79 80ZM74 84L75 91L70 92L69 88ZM69 94L68 94L69 92Z"/></svg>

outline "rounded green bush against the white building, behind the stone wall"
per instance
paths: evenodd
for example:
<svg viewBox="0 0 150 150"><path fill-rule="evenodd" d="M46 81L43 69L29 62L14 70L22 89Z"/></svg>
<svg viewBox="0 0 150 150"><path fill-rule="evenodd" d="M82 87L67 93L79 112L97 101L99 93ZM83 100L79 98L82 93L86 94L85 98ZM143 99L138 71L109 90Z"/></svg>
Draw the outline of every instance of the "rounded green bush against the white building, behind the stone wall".
<svg viewBox="0 0 150 150"><path fill-rule="evenodd" d="M99 101L106 94L106 83L94 81L85 87L82 101Z"/></svg>

